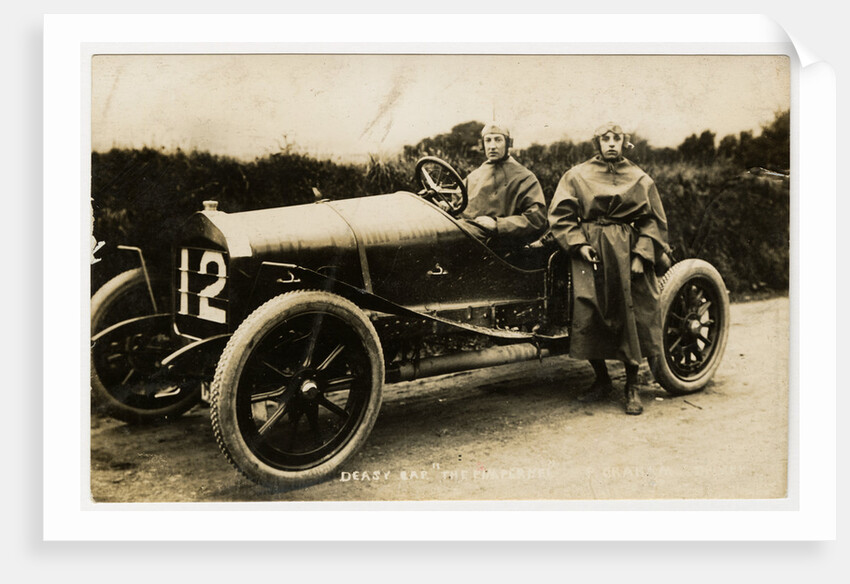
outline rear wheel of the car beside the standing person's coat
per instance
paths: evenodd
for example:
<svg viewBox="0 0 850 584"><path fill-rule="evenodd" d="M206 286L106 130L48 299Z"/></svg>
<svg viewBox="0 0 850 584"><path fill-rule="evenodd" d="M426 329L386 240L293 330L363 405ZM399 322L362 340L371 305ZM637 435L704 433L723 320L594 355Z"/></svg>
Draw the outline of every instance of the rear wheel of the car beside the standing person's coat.
<svg viewBox="0 0 850 584"><path fill-rule="evenodd" d="M672 395L701 391L717 371L729 335L729 293L706 261L675 264L661 279L663 350L650 361L655 380Z"/></svg>

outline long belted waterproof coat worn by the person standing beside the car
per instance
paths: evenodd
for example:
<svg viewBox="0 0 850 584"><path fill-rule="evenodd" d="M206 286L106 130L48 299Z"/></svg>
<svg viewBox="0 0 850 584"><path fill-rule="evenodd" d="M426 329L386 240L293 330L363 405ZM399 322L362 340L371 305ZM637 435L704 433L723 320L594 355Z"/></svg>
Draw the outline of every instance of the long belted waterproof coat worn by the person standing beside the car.
<svg viewBox="0 0 850 584"><path fill-rule="evenodd" d="M549 228L572 256L570 354L639 364L660 352L659 287L654 265L669 251L667 218L649 176L625 158L596 156L571 168L558 183ZM578 250L590 245L601 263ZM634 256L644 273L632 277Z"/></svg>

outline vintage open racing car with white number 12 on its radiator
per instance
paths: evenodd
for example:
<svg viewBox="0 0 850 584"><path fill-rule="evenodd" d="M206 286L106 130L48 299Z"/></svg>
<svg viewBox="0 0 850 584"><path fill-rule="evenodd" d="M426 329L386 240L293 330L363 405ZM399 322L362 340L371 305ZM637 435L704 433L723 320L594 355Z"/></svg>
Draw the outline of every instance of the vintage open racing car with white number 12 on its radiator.
<svg viewBox="0 0 850 584"><path fill-rule="evenodd" d="M232 214L205 202L170 270L126 248L140 267L92 297L95 407L139 423L204 397L227 459L290 489L363 445L384 384L567 353L565 254L491 249L456 219L457 172L426 157L415 173L417 194ZM700 259L673 264L661 286L653 375L671 394L699 391L725 348L726 287Z"/></svg>

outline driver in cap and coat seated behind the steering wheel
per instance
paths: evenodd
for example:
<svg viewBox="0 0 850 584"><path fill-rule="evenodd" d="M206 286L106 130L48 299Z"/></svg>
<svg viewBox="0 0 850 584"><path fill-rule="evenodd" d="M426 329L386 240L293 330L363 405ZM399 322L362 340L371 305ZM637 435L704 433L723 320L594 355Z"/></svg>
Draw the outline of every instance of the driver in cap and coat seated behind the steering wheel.
<svg viewBox="0 0 850 584"><path fill-rule="evenodd" d="M464 180L469 203L461 222L485 244L518 249L548 227L546 202L537 177L510 155L511 132L499 124L481 130L487 160Z"/></svg>

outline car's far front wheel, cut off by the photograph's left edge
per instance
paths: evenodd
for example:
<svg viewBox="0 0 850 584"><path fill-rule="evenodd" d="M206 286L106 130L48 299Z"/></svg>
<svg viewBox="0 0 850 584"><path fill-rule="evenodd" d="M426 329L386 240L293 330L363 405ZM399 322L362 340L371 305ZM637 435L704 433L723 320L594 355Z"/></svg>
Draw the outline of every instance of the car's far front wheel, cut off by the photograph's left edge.
<svg viewBox="0 0 850 584"><path fill-rule="evenodd" d="M165 306L167 300L159 298L160 311ZM141 268L122 272L92 296L94 412L144 424L176 418L200 400L197 381L151 378L162 359L181 346L170 334L171 316L156 312ZM124 324L110 328L118 323Z"/></svg>

